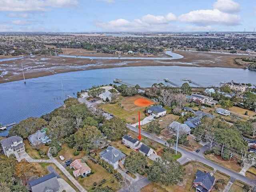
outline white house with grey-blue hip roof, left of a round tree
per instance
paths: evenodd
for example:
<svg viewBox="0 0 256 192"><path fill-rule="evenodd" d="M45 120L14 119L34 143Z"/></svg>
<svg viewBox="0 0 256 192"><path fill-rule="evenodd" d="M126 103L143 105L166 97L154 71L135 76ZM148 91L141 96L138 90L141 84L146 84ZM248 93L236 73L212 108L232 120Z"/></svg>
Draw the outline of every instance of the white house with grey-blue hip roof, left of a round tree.
<svg viewBox="0 0 256 192"><path fill-rule="evenodd" d="M108 146L104 151L100 152L100 158L103 159L104 161L108 162L111 164L114 169L118 168L118 165L122 167L125 161L125 154L122 153L120 150Z"/></svg>

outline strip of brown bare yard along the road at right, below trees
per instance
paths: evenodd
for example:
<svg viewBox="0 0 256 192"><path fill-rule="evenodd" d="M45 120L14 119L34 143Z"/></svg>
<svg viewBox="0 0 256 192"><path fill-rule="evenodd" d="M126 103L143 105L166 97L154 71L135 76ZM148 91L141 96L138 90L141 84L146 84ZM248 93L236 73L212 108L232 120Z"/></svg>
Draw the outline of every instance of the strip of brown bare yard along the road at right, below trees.
<svg viewBox="0 0 256 192"><path fill-rule="evenodd" d="M240 172L240 170L242 169L242 167L240 167L240 165L238 164L238 162L235 159L229 160L223 160L220 156L216 156L216 155L204 155L204 157L212 162L215 162L221 166L224 166L230 170L233 170L235 172Z"/></svg>

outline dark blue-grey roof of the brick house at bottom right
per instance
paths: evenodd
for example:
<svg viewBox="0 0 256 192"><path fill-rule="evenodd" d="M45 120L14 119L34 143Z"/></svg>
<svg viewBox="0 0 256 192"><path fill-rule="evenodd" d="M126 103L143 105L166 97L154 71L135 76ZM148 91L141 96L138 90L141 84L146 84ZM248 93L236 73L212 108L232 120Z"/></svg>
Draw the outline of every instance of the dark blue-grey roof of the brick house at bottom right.
<svg viewBox="0 0 256 192"><path fill-rule="evenodd" d="M215 181L215 177L210 175L210 172L204 173L200 170L196 171L196 179L193 183L202 183L205 188L209 191L210 188L213 186Z"/></svg>

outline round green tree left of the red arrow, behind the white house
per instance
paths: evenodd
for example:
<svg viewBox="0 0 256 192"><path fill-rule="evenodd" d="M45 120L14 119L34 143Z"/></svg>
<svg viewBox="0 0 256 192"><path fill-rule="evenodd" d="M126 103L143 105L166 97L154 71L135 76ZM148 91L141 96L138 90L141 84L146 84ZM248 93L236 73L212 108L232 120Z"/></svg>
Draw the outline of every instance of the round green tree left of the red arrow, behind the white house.
<svg viewBox="0 0 256 192"><path fill-rule="evenodd" d="M120 118L113 117L101 126L102 132L113 140L118 140L126 134L126 124Z"/></svg>

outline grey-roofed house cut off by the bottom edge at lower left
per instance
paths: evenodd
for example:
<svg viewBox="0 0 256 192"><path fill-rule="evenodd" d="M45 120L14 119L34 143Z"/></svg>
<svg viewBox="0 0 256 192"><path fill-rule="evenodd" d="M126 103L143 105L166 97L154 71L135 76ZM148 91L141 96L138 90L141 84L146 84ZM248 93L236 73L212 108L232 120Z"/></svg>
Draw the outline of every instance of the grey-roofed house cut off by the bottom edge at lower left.
<svg viewBox="0 0 256 192"><path fill-rule="evenodd" d="M60 184L54 172L29 183L32 192L60 192Z"/></svg>

